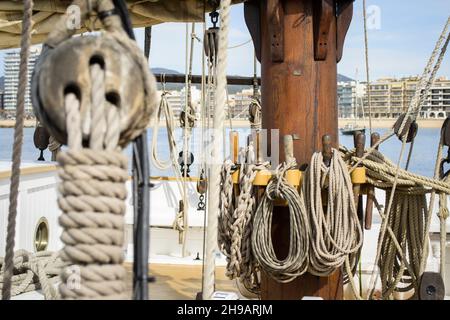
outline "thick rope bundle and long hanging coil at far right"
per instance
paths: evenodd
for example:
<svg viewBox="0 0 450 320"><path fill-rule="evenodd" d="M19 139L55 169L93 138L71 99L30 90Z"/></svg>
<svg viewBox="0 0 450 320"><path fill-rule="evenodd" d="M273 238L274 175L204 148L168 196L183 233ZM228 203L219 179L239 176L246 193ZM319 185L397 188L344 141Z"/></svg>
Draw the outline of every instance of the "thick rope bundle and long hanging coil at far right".
<svg viewBox="0 0 450 320"><path fill-rule="evenodd" d="M436 174L435 178L428 178L397 169L395 163L376 150L368 154L366 159L355 157L354 150L345 148L341 150L345 159L352 162L361 161L364 164L369 184L386 190L385 205L388 212L383 212L375 199L380 216L386 223L385 228L388 234L388 237L382 237L380 232L380 254L375 260L375 264L379 267L382 297L390 299L395 292L411 290L417 292L423 273L423 264L429 251L428 231L432 204L430 201L430 206L427 207L425 194L431 192L431 196L434 197L434 192L439 192L440 198L446 198L450 193L450 184L446 180L439 180ZM442 137L439 143L436 172L439 169L441 156ZM392 194L394 184L397 188L395 194ZM393 200L389 205L390 200L388 199L391 197ZM441 224L446 219L445 211L444 200L440 205L439 212ZM441 247L441 252L444 247ZM375 279L372 279L371 282L369 298L372 297L371 292L376 286Z"/></svg>

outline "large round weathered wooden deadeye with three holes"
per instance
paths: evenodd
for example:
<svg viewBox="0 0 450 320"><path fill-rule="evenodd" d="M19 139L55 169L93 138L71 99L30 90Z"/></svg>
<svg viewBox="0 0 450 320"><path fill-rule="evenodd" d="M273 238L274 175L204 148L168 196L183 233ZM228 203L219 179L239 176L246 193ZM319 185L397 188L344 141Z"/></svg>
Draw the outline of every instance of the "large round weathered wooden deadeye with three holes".
<svg viewBox="0 0 450 320"><path fill-rule="evenodd" d="M99 7L104 3L99 2ZM101 17L102 12L98 15ZM89 128L95 126L89 122L91 110L96 107L91 102L93 64L99 64L104 71L105 100L119 109L120 146L145 129L156 109L156 82L143 53L125 34L117 15L104 16L107 16L102 20L105 32L71 37L70 30L64 30L65 37L57 35L57 41L44 44L35 67L32 78L35 113L61 143L67 142L64 99L66 94L73 93L80 101L83 144L88 144Z"/></svg>

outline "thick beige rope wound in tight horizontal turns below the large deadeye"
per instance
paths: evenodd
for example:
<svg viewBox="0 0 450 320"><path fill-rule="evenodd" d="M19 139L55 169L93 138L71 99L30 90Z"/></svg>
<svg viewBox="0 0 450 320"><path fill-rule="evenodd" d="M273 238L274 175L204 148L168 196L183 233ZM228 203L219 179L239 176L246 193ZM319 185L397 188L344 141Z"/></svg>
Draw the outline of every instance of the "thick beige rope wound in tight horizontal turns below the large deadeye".
<svg viewBox="0 0 450 320"><path fill-rule="evenodd" d="M127 159L119 151L79 149L58 155L65 261L79 266L79 285L62 275L63 298L103 299L125 291L123 215ZM123 297L123 296L122 296Z"/></svg>

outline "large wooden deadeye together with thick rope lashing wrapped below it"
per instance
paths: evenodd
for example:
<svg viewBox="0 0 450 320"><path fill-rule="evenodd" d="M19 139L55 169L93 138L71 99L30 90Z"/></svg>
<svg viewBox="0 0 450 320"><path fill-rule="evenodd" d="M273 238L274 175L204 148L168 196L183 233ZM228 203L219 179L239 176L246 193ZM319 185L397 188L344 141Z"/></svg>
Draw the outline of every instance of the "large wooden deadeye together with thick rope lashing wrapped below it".
<svg viewBox="0 0 450 320"><path fill-rule="evenodd" d="M104 32L72 37L75 30L64 15L45 41L32 77L39 121L68 145L57 155L61 257L69 265L61 274L63 299L127 298L123 245L129 173L123 149L145 131L158 97L147 59L126 32L123 7L116 3L73 1L81 22L96 14Z"/></svg>

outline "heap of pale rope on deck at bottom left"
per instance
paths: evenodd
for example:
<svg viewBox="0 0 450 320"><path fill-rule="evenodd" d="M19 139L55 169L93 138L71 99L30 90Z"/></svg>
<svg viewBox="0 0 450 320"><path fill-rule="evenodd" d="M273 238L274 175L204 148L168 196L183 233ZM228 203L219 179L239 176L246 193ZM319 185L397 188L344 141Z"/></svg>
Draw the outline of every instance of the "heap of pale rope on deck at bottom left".
<svg viewBox="0 0 450 320"><path fill-rule="evenodd" d="M64 263L58 253L41 251L33 254L18 250L14 253L13 265L12 296L41 289L47 300L59 297L55 283L59 281L59 273ZM4 269L4 259L0 258L0 288L4 285Z"/></svg>

